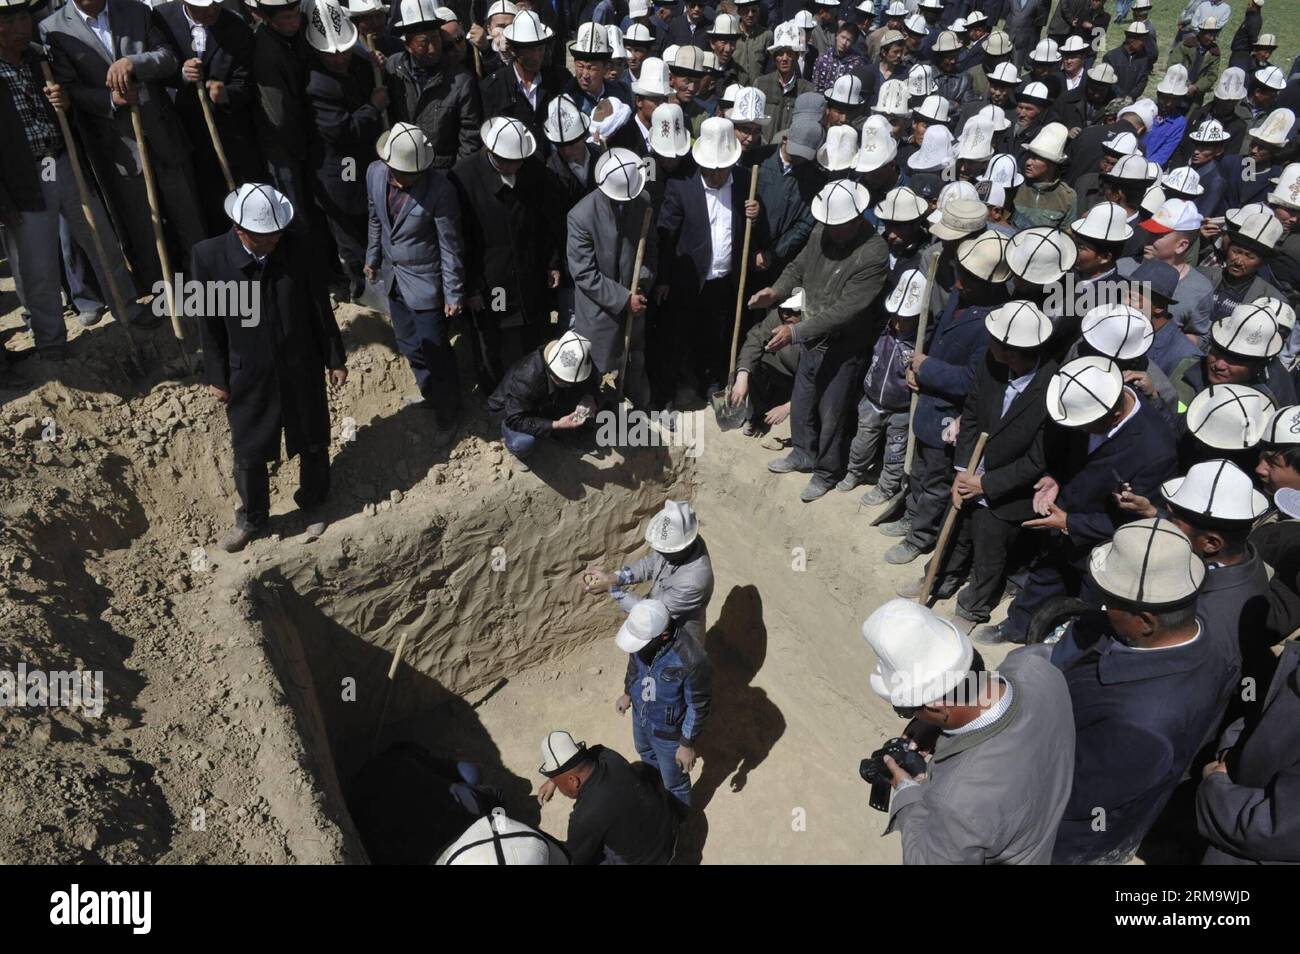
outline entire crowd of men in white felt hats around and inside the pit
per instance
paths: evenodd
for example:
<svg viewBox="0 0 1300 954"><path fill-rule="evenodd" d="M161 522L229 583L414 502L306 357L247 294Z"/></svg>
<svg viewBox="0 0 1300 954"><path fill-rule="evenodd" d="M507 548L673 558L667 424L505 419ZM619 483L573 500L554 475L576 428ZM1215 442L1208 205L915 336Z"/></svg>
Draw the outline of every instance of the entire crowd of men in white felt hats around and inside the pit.
<svg viewBox="0 0 1300 954"><path fill-rule="evenodd" d="M328 498L339 302L382 304L433 441L476 390L520 468L624 400L788 420L768 471L864 489L884 559L930 555L863 626L928 756L872 769L905 860L1115 862L1184 824L1300 862L1300 75L1265 0L1193 0L1167 48L1119 0L1108 49L1106 6L0 0L5 251L38 360L109 308L168 334L176 281L257 289L256 320L174 322L229 412L229 551L282 445ZM586 574L662 777L547 737L581 860L667 860L689 812L694 520ZM500 858L494 819L467 837Z"/></svg>

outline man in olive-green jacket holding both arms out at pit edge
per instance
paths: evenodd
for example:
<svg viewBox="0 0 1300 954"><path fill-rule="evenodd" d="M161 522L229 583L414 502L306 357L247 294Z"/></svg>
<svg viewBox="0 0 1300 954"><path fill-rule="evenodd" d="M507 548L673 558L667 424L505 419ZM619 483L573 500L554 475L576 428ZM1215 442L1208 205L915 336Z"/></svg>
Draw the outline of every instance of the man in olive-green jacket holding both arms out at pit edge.
<svg viewBox="0 0 1300 954"><path fill-rule="evenodd" d="M750 308L770 308L803 289L803 320L780 325L767 343L768 351L801 348L790 396L794 448L767 469L811 473L800 494L805 503L823 496L845 474L844 429L871 329L864 304L884 287L889 257L884 239L863 217L870 205L866 186L828 182L812 200L819 227L803 251L772 286L749 299Z"/></svg>

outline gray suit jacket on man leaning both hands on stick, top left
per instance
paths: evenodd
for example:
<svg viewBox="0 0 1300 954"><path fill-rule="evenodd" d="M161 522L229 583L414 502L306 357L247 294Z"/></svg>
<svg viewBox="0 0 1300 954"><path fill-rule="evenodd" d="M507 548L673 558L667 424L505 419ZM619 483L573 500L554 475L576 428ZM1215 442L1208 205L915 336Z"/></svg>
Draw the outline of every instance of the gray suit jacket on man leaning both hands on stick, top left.
<svg viewBox="0 0 1300 954"><path fill-rule="evenodd" d="M108 0L113 53L104 48L75 4L42 22L53 56L55 81L68 88L73 118L92 157L109 161L118 175L140 174L140 151L131 126L131 108L114 107L104 79L108 68L127 58L140 82L140 121L150 157L162 165L188 161L190 143L162 81L181 69L161 21L138 0Z"/></svg>

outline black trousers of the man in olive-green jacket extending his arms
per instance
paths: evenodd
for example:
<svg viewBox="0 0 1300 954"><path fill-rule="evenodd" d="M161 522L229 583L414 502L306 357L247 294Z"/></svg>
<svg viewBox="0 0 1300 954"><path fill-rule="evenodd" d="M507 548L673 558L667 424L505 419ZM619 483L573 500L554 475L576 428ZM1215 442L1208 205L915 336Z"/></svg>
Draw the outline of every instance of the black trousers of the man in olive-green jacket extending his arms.
<svg viewBox="0 0 1300 954"><path fill-rule="evenodd" d="M841 341L832 341L824 348L798 347L803 352L790 391L790 437L796 448L812 459L814 477L837 481L844 476L849 442L857 433L861 348Z"/></svg>

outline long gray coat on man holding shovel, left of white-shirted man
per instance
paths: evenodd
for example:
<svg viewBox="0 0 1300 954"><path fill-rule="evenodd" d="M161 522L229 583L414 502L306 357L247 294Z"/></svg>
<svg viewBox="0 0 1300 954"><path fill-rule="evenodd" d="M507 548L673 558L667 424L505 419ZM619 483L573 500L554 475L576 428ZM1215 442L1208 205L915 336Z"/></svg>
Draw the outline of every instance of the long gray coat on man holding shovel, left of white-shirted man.
<svg viewBox="0 0 1300 954"><path fill-rule="evenodd" d="M564 256L573 277L573 330L592 342L592 361L603 374L618 370L632 269L650 196L614 201L601 190L578 199L568 214ZM638 290L650 294L658 266L658 230L651 216ZM642 318L644 321L644 318Z"/></svg>

